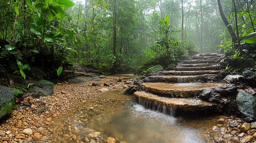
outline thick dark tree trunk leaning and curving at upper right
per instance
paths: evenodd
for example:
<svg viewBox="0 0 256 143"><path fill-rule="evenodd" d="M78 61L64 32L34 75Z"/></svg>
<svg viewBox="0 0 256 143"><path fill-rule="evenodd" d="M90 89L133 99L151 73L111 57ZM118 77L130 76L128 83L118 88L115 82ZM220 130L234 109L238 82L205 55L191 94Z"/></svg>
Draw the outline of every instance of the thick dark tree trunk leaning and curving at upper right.
<svg viewBox="0 0 256 143"><path fill-rule="evenodd" d="M235 32L233 32L232 27L229 25L229 23L228 23L228 21L227 21L227 18L226 18L226 16L224 15L224 12L223 12L222 6L221 6L221 1L220 1L220 0L217 0L217 2L218 2L218 7L219 7L220 14L221 14L221 18L222 18L224 24L226 25L226 27L227 27L227 29L228 29L229 35L230 35L230 37L231 37L231 39L232 39L232 42L233 42L233 43L236 43L236 41L237 41L236 34L235 34Z"/></svg>

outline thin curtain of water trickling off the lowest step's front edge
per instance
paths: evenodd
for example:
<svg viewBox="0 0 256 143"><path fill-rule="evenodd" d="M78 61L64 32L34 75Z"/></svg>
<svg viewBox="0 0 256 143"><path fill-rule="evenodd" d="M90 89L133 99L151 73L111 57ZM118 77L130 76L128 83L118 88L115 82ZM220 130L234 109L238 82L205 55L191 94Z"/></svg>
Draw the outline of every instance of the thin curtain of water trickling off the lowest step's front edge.
<svg viewBox="0 0 256 143"><path fill-rule="evenodd" d="M144 101L140 98L137 98L137 99L139 100L138 101L139 105L143 106L146 109L157 111L157 112L160 112L160 113L163 113L163 114L166 114L166 115L170 115L170 116L175 115L175 110L172 109L172 108L166 108L163 105L158 105L157 103L147 102L147 101Z"/></svg>

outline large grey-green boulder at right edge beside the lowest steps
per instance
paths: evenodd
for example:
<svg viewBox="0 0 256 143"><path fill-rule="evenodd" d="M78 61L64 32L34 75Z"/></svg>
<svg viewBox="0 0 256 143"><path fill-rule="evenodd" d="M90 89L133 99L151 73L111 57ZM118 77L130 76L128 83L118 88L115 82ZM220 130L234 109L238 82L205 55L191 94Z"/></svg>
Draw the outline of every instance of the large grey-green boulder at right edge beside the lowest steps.
<svg viewBox="0 0 256 143"><path fill-rule="evenodd" d="M256 120L256 97L245 91L240 91L236 96L238 114L247 122Z"/></svg>

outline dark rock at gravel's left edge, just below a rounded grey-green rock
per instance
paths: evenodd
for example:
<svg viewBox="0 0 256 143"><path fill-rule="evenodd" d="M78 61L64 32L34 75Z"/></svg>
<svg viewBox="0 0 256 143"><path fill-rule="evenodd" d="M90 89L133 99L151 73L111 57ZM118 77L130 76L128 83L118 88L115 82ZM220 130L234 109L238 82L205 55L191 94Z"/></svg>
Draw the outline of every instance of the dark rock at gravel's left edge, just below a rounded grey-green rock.
<svg viewBox="0 0 256 143"><path fill-rule="evenodd" d="M42 88L34 86L29 92L32 93L33 98L40 98L41 96L53 96L53 88L49 86L43 86Z"/></svg>

